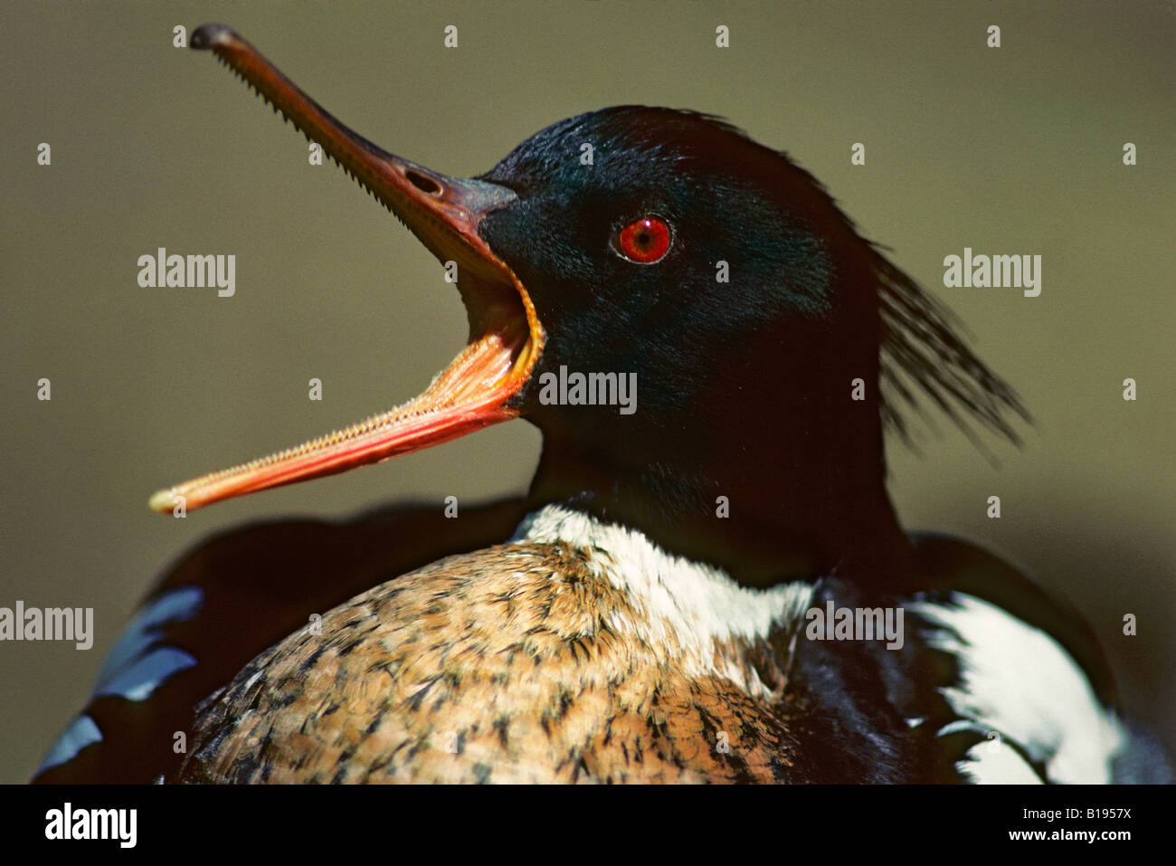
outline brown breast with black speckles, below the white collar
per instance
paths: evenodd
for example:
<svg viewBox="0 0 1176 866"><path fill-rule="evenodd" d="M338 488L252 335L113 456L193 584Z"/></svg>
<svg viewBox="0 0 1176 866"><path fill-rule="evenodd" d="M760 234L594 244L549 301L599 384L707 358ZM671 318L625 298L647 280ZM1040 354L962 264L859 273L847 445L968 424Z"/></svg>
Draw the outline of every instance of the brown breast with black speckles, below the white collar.
<svg viewBox="0 0 1176 866"><path fill-rule="evenodd" d="M201 705L179 779L787 781L777 648L716 648L755 695L688 672L589 555L492 547L358 595Z"/></svg>

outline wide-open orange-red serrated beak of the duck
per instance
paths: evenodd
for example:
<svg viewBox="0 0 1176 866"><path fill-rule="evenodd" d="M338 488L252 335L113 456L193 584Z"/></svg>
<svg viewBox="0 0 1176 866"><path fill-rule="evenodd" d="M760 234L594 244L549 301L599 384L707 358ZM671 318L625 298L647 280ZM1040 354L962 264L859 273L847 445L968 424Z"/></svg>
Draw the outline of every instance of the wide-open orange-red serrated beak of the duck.
<svg viewBox="0 0 1176 866"><path fill-rule="evenodd" d="M252 45L223 25L203 25L191 46L211 49L276 111L392 211L441 261L457 264L469 342L425 393L366 421L295 448L159 491L172 512L346 472L508 421L508 402L543 347L543 329L519 278L479 235L482 218L515 200L506 187L429 171L387 153L323 111ZM181 499L182 498L182 499Z"/></svg>

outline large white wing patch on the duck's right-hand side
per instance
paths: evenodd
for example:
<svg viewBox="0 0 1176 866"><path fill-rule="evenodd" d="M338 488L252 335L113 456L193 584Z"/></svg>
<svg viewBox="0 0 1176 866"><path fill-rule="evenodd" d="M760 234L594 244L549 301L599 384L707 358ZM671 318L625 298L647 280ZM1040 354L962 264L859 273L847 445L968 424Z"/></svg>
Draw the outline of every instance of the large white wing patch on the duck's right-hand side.
<svg viewBox="0 0 1176 866"><path fill-rule="evenodd" d="M929 645L958 659L960 685L941 690L956 714L1020 744L1045 766L1049 781L1110 782L1123 731L1082 668L1040 628L973 595L951 598L955 604L911 607L935 627ZM1003 744L1003 751L993 745L974 746L957 767L975 780L1015 781L1022 773L1013 758L1024 761ZM1010 778L996 778L1002 774Z"/></svg>

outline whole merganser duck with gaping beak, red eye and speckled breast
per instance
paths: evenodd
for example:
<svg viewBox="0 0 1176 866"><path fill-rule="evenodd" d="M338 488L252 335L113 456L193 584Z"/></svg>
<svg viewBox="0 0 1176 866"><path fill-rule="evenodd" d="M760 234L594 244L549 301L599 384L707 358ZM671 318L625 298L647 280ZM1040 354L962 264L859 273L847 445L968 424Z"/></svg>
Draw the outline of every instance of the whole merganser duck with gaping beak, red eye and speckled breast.
<svg viewBox="0 0 1176 866"><path fill-rule="evenodd" d="M399 408L152 507L515 418L542 457L524 500L459 520L401 507L206 542L36 781L1169 778L1081 618L901 528L882 438L920 395L1013 440L1028 414L783 153L620 106L459 180L359 136L228 27L191 46L456 265L470 339Z"/></svg>

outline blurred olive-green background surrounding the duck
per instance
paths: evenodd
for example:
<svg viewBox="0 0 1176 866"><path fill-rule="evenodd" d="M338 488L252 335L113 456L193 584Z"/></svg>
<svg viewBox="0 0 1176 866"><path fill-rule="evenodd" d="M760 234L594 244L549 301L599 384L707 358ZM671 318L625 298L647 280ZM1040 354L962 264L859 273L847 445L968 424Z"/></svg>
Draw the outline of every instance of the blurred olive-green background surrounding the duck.
<svg viewBox="0 0 1176 866"><path fill-rule="evenodd" d="M1127 706L1176 746L1171 4L9 0L0 606L93 607L95 641L0 644L0 781L31 775L138 599L202 537L520 492L539 452L515 421L186 520L147 509L160 486L412 397L466 335L456 292L382 207L309 166L305 139L211 56L172 47L175 25L206 20L361 134L452 174L620 102L714 112L789 151L961 315L1037 419L1023 449L990 442L998 467L947 421L921 455L891 447L906 525L980 541L1077 605ZM234 253L236 295L140 288L136 259L160 246ZM943 288L943 257L964 246L1042 255L1041 297ZM1001 520L984 515L993 494Z"/></svg>

